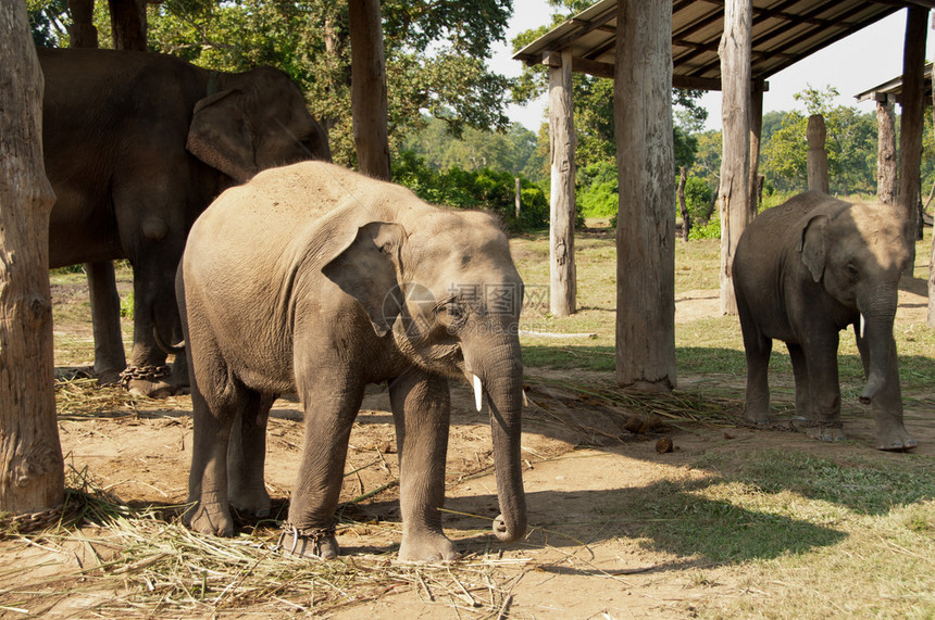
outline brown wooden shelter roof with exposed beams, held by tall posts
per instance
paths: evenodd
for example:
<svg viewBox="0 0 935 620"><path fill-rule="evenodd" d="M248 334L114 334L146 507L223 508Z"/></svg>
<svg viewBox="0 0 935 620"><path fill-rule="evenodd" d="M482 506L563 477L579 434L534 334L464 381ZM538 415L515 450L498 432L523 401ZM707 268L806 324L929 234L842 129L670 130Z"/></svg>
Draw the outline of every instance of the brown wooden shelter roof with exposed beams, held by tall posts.
<svg viewBox="0 0 935 620"><path fill-rule="evenodd" d="M935 0L752 0L752 78L764 80L797 61L910 4L930 9ZM672 84L720 90L718 46L724 0L673 0ZM570 49L572 71L613 77L616 0L601 0L549 30L513 58L539 64Z"/></svg>

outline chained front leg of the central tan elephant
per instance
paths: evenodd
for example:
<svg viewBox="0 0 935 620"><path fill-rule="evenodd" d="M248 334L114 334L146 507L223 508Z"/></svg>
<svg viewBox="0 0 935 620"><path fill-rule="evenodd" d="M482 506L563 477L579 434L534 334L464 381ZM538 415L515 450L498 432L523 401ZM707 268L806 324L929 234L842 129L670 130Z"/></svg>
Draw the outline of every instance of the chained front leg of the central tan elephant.
<svg viewBox="0 0 935 620"><path fill-rule="evenodd" d="M315 372L314 379L303 379L302 372L297 372L306 409L306 441L289 504L285 547L287 553L331 559L340 552L335 537L335 509L364 387L349 379L349 372L328 364Z"/></svg>

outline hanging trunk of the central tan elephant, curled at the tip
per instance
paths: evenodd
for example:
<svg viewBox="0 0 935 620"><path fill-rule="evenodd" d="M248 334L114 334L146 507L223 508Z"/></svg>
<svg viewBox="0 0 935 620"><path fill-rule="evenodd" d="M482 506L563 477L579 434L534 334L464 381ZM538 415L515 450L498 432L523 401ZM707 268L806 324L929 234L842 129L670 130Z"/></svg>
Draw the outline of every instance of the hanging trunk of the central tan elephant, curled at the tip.
<svg viewBox="0 0 935 620"><path fill-rule="evenodd" d="M500 503L500 517L494 522L494 533L501 542L509 543L526 533L526 496L520 454L523 362L515 334L503 334L495 340L497 342L493 345L473 343L474 346L465 346L465 360L469 371L479 379L487 393Z"/></svg>

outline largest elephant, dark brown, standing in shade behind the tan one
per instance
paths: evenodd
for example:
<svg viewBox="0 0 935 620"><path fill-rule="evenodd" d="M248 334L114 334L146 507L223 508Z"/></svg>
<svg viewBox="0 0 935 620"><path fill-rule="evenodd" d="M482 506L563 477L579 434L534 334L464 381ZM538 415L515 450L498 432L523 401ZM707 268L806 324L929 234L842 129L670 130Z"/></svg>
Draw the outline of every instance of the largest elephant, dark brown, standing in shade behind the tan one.
<svg viewBox="0 0 935 620"><path fill-rule="evenodd" d="M46 174L58 197L50 266L89 264L95 370L112 379L126 363L110 262L129 260L134 344L124 384L169 395L186 381L167 376L163 343L182 334L174 280L191 224L259 170L329 160L327 136L299 88L273 68L219 73L132 51L38 55Z"/></svg>

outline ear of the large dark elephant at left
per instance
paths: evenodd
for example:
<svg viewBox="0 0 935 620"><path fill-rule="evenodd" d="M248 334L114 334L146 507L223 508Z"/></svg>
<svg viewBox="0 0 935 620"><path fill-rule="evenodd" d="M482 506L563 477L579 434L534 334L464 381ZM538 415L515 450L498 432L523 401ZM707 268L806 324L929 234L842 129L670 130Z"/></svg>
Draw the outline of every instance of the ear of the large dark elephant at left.
<svg viewBox="0 0 935 620"><path fill-rule="evenodd" d="M196 103L185 144L192 155L240 184L259 172L242 97L239 90L224 90Z"/></svg>

